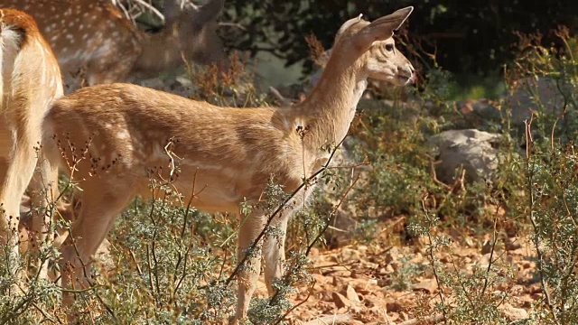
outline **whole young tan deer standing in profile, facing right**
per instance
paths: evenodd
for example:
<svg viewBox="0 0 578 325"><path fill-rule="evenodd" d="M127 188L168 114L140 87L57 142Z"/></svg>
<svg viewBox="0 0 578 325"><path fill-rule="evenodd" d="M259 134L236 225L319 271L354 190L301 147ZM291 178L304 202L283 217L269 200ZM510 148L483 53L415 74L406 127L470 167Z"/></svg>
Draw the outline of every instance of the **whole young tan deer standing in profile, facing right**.
<svg viewBox="0 0 578 325"><path fill-rule="evenodd" d="M62 250L64 285L82 281L82 265L88 265L135 195L151 196L149 181L159 166L165 167L163 180L171 179L166 168L171 157L180 165L172 188L184 202L191 200L205 211L238 215L242 201L262 197L272 175L285 191L298 189L303 178L328 163L326 145L340 144L347 135L368 78L396 85L413 80L414 68L392 37L412 10L400 9L373 23L360 17L343 23L322 78L293 107L215 107L129 84L82 88L57 100L44 120L44 141L51 143L46 144L51 160L74 164L82 189L79 218L70 232L76 245L69 237ZM275 218L280 237L261 243L269 292L283 274L287 220L311 192L312 186L303 188ZM256 241L266 219L265 210L254 210L242 223L239 257ZM259 257L248 255L247 260L250 267L238 274L235 320L246 317L260 270ZM64 302L71 299L66 296Z"/></svg>

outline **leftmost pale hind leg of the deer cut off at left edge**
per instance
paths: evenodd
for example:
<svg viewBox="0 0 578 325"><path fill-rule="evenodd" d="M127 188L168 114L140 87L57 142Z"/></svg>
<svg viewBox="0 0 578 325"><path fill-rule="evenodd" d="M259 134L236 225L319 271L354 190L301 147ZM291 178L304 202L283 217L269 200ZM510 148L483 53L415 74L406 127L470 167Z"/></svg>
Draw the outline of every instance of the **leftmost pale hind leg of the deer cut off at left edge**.
<svg viewBox="0 0 578 325"><path fill-rule="evenodd" d="M0 117L0 153L4 156L3 178L0 183L0 204L4 216L0 218L0 241L10 249L11 274L18 274L20 265L18 252L18 223L20 201L28 187L36 166L34 145L41 139L40 129L20 116ZM15 118L13 118L15 117ZM14 120L13 120L14 119ZM16 120L18 119L18 120ZM2 214L2 212L0 212ZM22 274L19 274L22 275Z"/></svg>

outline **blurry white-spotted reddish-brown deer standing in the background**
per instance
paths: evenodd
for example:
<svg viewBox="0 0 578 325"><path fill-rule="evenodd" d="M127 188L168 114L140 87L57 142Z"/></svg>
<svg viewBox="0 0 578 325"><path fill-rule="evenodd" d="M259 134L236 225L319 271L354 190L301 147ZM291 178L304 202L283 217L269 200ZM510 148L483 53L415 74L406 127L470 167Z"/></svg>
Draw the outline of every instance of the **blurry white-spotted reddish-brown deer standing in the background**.
<svg viewBox="0 0 578 325"><path fill-rule="evenodd" d="M56 54L64 78L87 85L126 81L178 67L183 55L202 64L222 64L216 18L224 0L181 11L167 2L165 26L147 34L136 30L109 0L3 0L31 14ZM76 86L72 86L76 88Z"/></svg>

